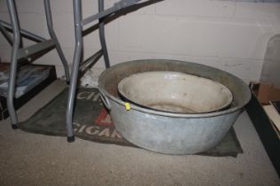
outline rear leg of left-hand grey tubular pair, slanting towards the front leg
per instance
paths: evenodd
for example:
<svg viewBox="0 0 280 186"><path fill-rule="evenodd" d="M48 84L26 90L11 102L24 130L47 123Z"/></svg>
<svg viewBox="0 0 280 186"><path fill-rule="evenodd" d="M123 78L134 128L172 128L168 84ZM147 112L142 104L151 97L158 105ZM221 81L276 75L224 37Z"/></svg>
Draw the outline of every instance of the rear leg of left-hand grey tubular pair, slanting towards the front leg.
<svg viewBox="0 0 280 186"><path fill-rule="evenodd" d="M63 51L61 50L60 43L57 39L57 36L55 35L55 33L53 31L52 12L51 12L50 0L44 0L44 10L45 10L45 16L46 16L46 20L47 20L47 26L48 26L49 34L51 35L52 39L55 41L55 48L56 48L56 50L57 50L57 52L60 56L60 60L61 60L62 65L64 67L65 77L66 77L66 81L67 81L67 84L68 84L69 81L70 81L68 62L63 55Z"/></svg>

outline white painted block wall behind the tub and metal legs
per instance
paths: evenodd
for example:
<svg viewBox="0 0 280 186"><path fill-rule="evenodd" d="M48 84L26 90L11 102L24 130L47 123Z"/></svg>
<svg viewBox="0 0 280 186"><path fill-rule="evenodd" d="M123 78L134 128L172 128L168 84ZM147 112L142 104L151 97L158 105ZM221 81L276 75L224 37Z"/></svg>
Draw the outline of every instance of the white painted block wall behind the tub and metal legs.
<svg viewBox="0 0 280 186"><path fill-rule="evenodd" d="M43 0L18 0L21 27L48 37ZM97 0L83 0L84 18L97 12ZM110 7L117 0L105 0ZM72 1L51 0L53 24L72 63L75 47ZM0 19L9 20L0 0ZM172 58L215 66L244 81L260 79L268 39L280 33L280 4L218 0L165 0L129 13L106 25L111 64L142 58ZM84 57L100 49L97 33L84 37ZM11 47L0 35L0 57L8 61ZM36 64L57 66L55 50ZM94 66L104 69L103 59Z"/></svg>

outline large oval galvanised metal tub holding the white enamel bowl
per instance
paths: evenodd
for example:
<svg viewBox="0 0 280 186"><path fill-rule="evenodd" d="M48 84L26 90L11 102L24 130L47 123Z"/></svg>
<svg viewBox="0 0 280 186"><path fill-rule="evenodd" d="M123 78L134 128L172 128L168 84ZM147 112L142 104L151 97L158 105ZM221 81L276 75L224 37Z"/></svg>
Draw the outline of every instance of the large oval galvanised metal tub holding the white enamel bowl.
<svg viewBox="0 0 280 186"><path fill-rule="evenodd" d="M131 74L173 71L218 81L231 90L234 100L219 112L174 113L132 105L125 108L118 83ZM239 78L219 69L176 60L148 59L112 66L100 74L99 89L116 130L135 145L166 154L193 154L211 149L226 136L251 99L251 91Z"/></svg>

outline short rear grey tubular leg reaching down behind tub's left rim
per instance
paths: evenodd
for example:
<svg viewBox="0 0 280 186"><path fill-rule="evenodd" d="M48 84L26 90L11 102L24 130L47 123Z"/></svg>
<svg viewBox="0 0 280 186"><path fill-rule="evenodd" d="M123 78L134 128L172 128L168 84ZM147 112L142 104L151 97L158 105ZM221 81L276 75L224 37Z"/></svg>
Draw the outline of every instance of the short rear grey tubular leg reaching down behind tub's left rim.
<svg viewBox="0 0 280 186"><path fill-rule="evenodd" d="M99 12L104 11L104 0L99 0ZM99 19L99 31L100 31L100 44L103 51L103 57L105 61L106 68L110 67L108 50L105 40L105 28L104 28L104 19Z"/></svg>

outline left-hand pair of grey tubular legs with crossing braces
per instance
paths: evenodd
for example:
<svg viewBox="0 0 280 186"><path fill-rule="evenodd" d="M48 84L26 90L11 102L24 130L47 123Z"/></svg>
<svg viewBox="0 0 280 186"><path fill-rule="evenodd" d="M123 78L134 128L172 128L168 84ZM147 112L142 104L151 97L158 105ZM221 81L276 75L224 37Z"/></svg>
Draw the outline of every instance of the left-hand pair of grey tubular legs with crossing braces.
<svg viewBox="0 0 280 186"><path fill-rule="evenodd" d="M31 61L34 58L30 58L30 57L36 54L37 52L55 48L59 54L62 65L64 66L67 82L69 82L69 71L68 71L67 60L63 55L63 52L60 47L60 43L53 31L50 0L44 0L44 11L46 15L48 31L51 36L50 40L44 39L43 37L34 35L31 32L20 29L18 12L16 10L14 0L6 0L6 2L7 2L8 11L11 19L11 25L7 22L0 20L0 31L3 33L7 41L12 45L10 78L8 82L8 94L7 94L7 107L10 113L12 128L16 129L18 128L17 127L18 117L14 109L13 97L14 97L17 66L18 66L19 59L26 58L28 59L28 61ZM13 37L8 32L12 32ZM36 44L29 46L27 48L23 48L20 44L21 36L26 37L29 40L35 41Z"/></svg>

